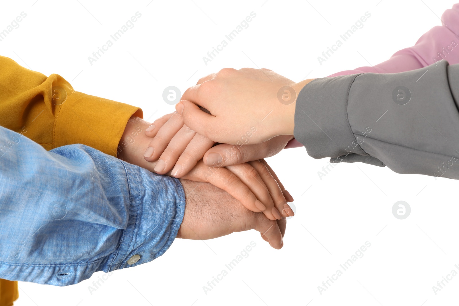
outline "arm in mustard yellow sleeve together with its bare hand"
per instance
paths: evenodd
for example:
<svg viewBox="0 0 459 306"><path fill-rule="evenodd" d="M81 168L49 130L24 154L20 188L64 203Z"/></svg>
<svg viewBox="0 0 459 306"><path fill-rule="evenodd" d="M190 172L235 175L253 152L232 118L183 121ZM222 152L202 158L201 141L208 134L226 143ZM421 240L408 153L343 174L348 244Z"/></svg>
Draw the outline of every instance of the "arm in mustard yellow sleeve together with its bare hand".
<svg viewBox="0 0 459 306"><path fill-rule="evenodd" d="M77 92L57 74L46 77L3 56L0 56L0 64L4 67L0 71L0 88L5 88L0 90L2 126L26 134L46 150L80 143L124 160L129 159L151 171L153 167L158 167L156 163L148 163L144 159L129 158L129 152L143 144L143 132L148 127L148 123L139 118L142 111L138 107ZM133 129L135 122L143 125ZM161 162L158 164L161 165ZM269 184L274 180L272 176L268 177L270 174L266 176L269 180L266 183L265 176L260 177L251 165L245 167L252 176L243 173L242 167L233 172L224 169L216 173L218 168L202 165L199 167L201 171L195 171L187 178L211 181L235 195L249 209L265 210L268 217L280 218L285 200L281 201L277 196L281 192L272 189L278 184Z"/></svg>

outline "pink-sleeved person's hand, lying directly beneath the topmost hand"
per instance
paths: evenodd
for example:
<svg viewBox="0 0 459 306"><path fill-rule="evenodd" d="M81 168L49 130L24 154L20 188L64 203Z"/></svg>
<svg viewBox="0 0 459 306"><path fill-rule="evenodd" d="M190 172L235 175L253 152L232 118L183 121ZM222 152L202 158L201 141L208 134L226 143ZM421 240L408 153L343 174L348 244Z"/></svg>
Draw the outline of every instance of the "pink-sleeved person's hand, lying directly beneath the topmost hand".
<svg viewBox="0 0 459 306"><path fill-rule="evenodd" d="M202 159L206 166L225 167L274 156L293 138L280 135L256 145L212 146L213 141L187 128L177 112L157 119L146 128L145 134L152 138L144 153L145 160L157 161L153 171L169 173L174 178L185 178ZM250 143L250 139L245 142ZM286 190L283 193L285 199L293 201L290 193Z"/></svg>

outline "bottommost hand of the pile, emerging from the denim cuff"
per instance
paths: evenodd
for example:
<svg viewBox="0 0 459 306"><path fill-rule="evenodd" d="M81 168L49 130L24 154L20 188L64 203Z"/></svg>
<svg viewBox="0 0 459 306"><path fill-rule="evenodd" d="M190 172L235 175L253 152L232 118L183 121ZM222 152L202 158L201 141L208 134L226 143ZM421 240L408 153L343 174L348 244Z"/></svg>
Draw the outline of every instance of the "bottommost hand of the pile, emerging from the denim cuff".
<svg viewBox="0 0 459 306"><path fill-rule="evenodd" d="M274 249L284 245L286 220L269 220L253 212L227 192L209 183L180 179L185 191L185 215L177 238L213 239L255 229Z"/></svg>

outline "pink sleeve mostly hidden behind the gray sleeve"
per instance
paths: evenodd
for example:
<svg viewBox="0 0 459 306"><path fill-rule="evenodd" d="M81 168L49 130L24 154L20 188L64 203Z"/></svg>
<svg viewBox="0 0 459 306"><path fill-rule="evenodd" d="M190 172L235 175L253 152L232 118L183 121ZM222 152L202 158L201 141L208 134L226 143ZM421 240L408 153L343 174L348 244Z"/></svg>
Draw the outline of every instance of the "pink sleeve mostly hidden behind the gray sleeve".
<svg viewBox="0 0 459 306"><path fill-rule="evenodd" d="M459 3L444 11L442 26L431 28L422 35L412 47L395 52L387 61L374 67L359 67L355 70L336 72L329 77L339 75L375 72L395 73L419 69L436 61L446 60L449 64L459 63ZM296 139L290 140L285 149L303 146Z"/></svg>

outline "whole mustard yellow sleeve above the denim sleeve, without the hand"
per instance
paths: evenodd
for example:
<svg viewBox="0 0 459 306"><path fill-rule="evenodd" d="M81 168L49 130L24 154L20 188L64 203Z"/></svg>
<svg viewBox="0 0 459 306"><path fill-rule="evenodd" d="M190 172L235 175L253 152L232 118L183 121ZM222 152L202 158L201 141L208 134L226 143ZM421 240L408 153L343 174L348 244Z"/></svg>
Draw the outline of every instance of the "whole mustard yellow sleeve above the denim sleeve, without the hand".
<svg viewBox="0 0 459 306"><path fill-rule="evenodd" d="M112 156L129 118L142 110L86 95L58 74L46 77L0 56L0 125L51 150L84 144Z"/></svg>

